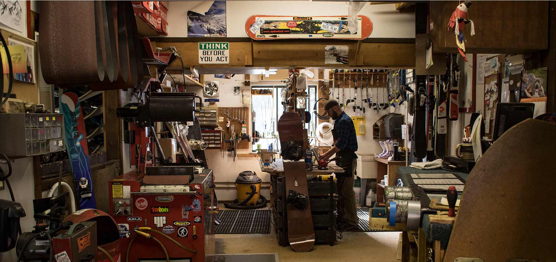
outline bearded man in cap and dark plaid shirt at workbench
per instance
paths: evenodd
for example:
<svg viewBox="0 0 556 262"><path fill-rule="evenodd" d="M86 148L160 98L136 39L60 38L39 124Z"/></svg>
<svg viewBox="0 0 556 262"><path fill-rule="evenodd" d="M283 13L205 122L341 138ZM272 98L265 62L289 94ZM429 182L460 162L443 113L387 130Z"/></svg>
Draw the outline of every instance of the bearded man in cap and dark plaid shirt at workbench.
<svg viewBox="0 0 556 262"><path fill-rule="evenodd" d="M340 104L334 100L328 100L324 105L324 112L334 120L332 137L334 144L326 153L320 155L320 159L329 159L336 154L339 158L336 164L344 169L344 173L335 174L337 178L336 188L338 193L336 220L340 230L353 230L359 228L359 218L355 205L355 192L353 190L354 173L357 167L357 137L353 120L341 109Z"/></svg>

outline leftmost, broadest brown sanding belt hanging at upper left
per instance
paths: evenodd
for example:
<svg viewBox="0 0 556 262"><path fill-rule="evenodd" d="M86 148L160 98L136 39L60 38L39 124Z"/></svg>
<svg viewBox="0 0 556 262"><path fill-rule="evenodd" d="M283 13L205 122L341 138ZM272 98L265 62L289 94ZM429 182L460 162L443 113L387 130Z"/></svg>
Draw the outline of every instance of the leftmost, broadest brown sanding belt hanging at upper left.
<svg viewBox="0 0 556 262"><path fill-rule="evenodd" d="M95 2L43 1L41 14L38 49L44 81L98 82Z"/></svg>

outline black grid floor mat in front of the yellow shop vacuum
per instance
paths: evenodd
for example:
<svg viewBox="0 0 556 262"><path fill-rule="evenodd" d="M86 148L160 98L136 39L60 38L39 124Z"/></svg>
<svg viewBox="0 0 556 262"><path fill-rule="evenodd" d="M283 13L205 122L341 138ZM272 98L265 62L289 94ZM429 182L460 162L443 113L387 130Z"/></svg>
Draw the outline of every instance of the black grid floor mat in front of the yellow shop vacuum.
<svg viewBox="0 0 556 262"><path fill-rule="evenodd" d="M270 234L270 209L220 210L216 234Z"/></svg>

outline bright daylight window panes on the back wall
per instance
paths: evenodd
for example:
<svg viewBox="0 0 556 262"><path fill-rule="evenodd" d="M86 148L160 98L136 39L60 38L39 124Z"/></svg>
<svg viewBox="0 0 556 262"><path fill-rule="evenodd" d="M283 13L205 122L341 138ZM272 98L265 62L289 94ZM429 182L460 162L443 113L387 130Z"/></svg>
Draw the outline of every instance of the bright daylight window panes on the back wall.
<svg viewBox="0 0 556 262"><path fill-rule="evenodd" d="M255 152L257 149L273 149L280 150L280 140L278 138L278 130L276 124L284 113L284 105L282 105L282 88L285 85L252 85L251 86L251 111L253 130L253 139L251 149ZM317 120L314 119L312 113L315 105L316 85L309 85L307 92L307 111L311 112L311 122L305 124L305 128L309 130L310 144L315 145Z"/></svg>

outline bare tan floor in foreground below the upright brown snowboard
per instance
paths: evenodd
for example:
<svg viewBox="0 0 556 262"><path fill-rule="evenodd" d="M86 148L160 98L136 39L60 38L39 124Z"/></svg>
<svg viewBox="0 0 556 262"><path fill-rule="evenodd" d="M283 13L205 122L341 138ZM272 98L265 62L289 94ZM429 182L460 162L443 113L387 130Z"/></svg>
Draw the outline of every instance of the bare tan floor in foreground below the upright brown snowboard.
<svg viewBox="0 0 556 262"><path fill-rule="evenodd" d="M399 232L344 232L342 235L334 246L315 245L310 252L297 253L290 246L278 245L274 228L270 234L216 234L216 254L278 253L280 262L399 261L396 259Z"/></svg>

